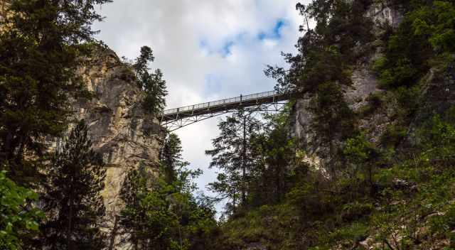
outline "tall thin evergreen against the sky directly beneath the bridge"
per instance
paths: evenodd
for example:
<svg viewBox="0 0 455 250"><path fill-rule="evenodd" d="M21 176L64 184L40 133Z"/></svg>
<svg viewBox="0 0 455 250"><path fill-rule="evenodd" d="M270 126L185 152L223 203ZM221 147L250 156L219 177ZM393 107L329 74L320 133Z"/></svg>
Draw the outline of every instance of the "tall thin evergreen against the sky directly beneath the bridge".
<svg viewBox="0 0 455 250"><path fill-rule="evenodd" d="M240 111L229 116L218 124L220 136L213 139L213 149L205 151L212 156L210 168L218 167L223 173L218 175L217 181L210 183L210 188L228 198L232 203L228 206L235 210L240 202L246 205L248 180L254 158L251 154L250 139L259 129L257 119Z"/></svg>

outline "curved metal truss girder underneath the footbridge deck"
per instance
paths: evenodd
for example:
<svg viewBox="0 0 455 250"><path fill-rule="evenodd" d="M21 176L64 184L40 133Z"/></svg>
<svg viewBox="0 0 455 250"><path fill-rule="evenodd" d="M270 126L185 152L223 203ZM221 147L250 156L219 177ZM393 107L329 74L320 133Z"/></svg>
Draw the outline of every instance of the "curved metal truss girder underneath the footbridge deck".
<svg viewBox="0 0 455 250"><path fill-rule="evenodd" d="M205 119L209 119L215 116L220 116L222 114L228 114L232 112L236 112L240 109L245 110L245 112L279 112L281 111L287 102L272 102L267 104L257 104L255 106L250 107L242 107L239 105L238 107L225 109L225 110L216 110L213 112L204 112L202 114L193 114L191 116L175 116L173 119L168 119L166 121L161 121L161 126L164 126L168 129L169 132L176 131L177 129L181 129L184 126L188 126L190 124L194 124L198 121L203 121Z"/></svg>

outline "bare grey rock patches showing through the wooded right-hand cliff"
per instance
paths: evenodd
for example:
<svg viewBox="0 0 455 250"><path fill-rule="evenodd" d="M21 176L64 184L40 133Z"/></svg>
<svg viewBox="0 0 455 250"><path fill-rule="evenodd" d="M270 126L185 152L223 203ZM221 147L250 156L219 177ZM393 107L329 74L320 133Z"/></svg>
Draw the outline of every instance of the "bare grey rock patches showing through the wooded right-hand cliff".
<svg viewBox="0 0 455 250"><path fill-rule="evenodd" d="M379 26L383 23L389 23L392 28L397 28L402 21L402 14L399 6L389 6L385 3L373 4L370 9L366 11L366 16L373 19L375 26L375 33L380 37ZM344 98L351 109L354 112L358 112L362 107L368 104L368 97L370 94L381 92L378 86L378 79L375 76L372 65L376 58L380 57L382 53L381 45L369 44L371 48L374 48L375 52L368 56L360 58L358 63L353 68L351 75L352 85L343 88ZM358 50L364 50L359 46ZM314 145L317 134L314 133L311 128L313 121L313 114L309 110L311 96L306 94L296 100L293 111L291 113L292 128L291 135L298 138L301 148L306 151L308 163L313 164L316 168L321 167L323 162L328 160L328 148ZM392 104L390 104L392 105ZM369 137L375 141L379 138L380 134L385 130L387 124L391 121L387 116L387 111L382 113L372 114L368 117L360 119L360 128L367 129L369 131Z"/></svg>

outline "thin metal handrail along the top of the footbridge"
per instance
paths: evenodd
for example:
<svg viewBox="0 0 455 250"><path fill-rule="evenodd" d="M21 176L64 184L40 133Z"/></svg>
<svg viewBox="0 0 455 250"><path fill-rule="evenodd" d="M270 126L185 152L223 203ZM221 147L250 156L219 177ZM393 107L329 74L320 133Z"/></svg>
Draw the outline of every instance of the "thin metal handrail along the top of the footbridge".
<svg viewBox="0 0 455 250"><path fill-rule="evenodd" d="M240 95L238 97L220 99L220 100L213 101L213 102L203 102L200 104L189 105L189 106L185 106L185 107L178 107L176 109L166 109L166 110L164 110L163 114L166 115L166 114L188 112L191 110L206 109L209 107L217 107L220 105L232 104L232 103L236 103L236 102L244 102L244 101L250 101L250 100L254 100L254 99L274 97L277 95L279 95L279 92L277 92L276 90L261 92L261 93L256 93L256 94Z"/></svg>

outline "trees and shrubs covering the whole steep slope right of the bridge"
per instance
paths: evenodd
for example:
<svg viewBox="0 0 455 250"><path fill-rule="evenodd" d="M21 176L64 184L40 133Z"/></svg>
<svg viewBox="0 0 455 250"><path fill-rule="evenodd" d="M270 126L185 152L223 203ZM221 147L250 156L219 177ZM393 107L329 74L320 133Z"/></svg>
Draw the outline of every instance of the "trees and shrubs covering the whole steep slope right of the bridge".
<svg viewBox="0 0 455 250"><path fill-rule="evenodd" d="M373 23L368 16L373 4L401 11L400 25ZM289 70L269 67L266 74L277 79L280 91L311 99L316 138L309 145L289 134L282 134L287 143L268 141L272 159L291 141L296 144L285 149L292 157L262 168L266 176L276 175L275 166L285 169L282 198L239 204L221 225L218 246L454 248L455 109L449 87L454 80L454 2L315 0L296 7L316 26L301 26L299 53L285 55ZM382 89L366 98L364 107L353 109L344 93L359 64L370 65ZM438 88L447 94L439 96ZM380 133L368 125L378 117L387 117ZM305 156L314 151L319 161L308 161ZM253 161L257 166L267 153L259 156ZM261 176L255 175L251 178ZM248 183L247 200L272 183L267 178Z"/></svg>

